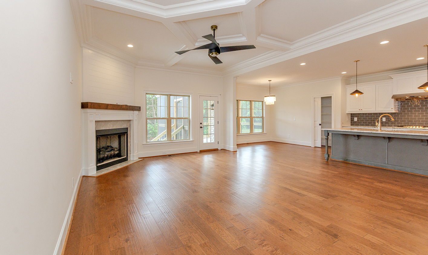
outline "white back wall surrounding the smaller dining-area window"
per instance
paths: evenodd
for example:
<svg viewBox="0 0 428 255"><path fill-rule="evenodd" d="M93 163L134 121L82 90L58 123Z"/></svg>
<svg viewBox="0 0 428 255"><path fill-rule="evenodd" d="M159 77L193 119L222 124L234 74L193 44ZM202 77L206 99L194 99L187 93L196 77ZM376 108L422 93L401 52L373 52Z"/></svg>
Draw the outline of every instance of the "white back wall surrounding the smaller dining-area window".
<svg viewBox="0 0 428 255"><path fill-rule="evenodd" d="M238 78L239 83L239 78ZM269 95L269 89L264 87L256 86L244 86L237 84L236 86L236 99L237 100L254 100L264 101L265 95ZM272 94L273 95L273 94ZM270 130L271 130L271 116L272 110L276 107L276 104L265 105L265 133L254 134L254 135L237 135L236 143L249 143L249 142L267 142L272 141Z"/></svg>

